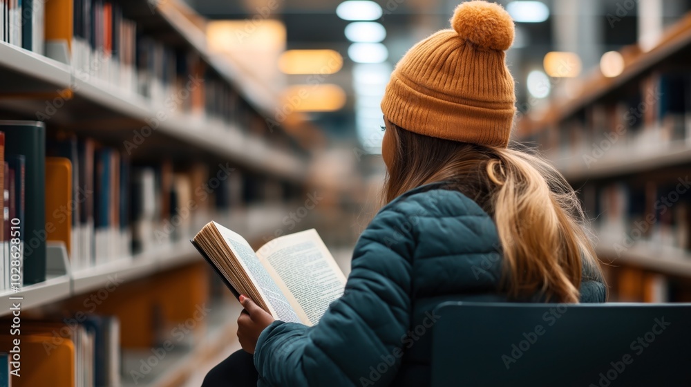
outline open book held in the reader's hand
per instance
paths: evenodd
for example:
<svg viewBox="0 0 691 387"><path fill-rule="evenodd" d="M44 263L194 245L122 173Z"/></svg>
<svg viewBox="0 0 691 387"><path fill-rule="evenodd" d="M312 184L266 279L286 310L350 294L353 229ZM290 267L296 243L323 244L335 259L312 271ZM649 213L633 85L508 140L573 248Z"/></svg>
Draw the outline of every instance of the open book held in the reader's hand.
<svg viewBox="0 0 691 387"><path fill-rule="evenodd" d="M191 242L236 297L249 296L277 320L314 325L345 289L314 229L270 240L255 253L245 238L211 222Z"/></svg>

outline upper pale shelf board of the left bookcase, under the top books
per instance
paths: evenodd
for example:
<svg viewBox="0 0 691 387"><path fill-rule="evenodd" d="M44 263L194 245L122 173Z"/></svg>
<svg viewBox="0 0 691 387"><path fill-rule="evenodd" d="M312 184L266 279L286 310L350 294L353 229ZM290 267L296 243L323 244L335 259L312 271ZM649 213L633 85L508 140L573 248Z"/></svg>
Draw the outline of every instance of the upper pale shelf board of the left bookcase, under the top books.
<svg viewBox="0 0 691 387"><path fill-rule="evenodd" d="M166 4L160 4L162 9L171 7L168 2L162 3ZM191 42L200 44L196 39L191 39ZM205 52L205 47L202 46L200 51ZM225 73L226 78L231 80L229 70ZM48 117L48 124L82 124L88 126L88 134L95 138L104 136L120 142L132 141L133 128L141 128L144 120L156 117L163 111L169 117L160 122L155 132L176 140L178 149L193 147L202 153L211 153L246 165L249 169L294 182L305 179L307 160L290 151L272 147L265 138L243 133L234 124L175 114L169 109L154 106L142 95L127 93L97 77L83 78L77 77L66 64L0 42L0 97L6 97L2 104L10 111L23 113L36 120L37 113L46 110L45 100L53 100L61 91L72 90L73 99L67 102L62 100L61 107L55 109L55 115ZM93 124L99 120L102 124ZM119 126L117 122L123 123L120 129L106 127ZM94 132L94 126L104 126L104 129Z"/></svg>

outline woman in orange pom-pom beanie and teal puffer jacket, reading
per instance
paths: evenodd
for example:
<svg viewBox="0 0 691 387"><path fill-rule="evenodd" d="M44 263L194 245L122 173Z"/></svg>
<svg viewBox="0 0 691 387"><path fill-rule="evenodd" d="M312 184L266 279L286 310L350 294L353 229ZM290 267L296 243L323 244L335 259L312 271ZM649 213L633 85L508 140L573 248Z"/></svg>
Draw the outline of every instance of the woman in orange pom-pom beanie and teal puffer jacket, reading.
<svg viewBox="0 0 691 387"><path fill-rule="evenodd" d="M471 1L451 24L408 51L387 86L388 204L355 247L345 294L312 328L241 297L238 337L254 359L236 352L207 386L424 386L431 338L414 328L429 328L439 303L605 301L574 191L507 148L511 17Z"/></svg>

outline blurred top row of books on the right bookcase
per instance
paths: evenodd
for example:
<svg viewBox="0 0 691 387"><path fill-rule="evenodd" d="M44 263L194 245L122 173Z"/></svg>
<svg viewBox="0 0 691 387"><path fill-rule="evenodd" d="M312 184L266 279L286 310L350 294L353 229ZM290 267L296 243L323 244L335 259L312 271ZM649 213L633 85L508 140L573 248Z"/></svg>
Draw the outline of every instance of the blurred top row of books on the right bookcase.
<svg viewBox="0 0 691 387"><path fill-rule="evenodd" d="M605 153L685 144L691 141L691 75L656 71L526 140L541 144L553 160L583 158L588 167Z"/></svg>

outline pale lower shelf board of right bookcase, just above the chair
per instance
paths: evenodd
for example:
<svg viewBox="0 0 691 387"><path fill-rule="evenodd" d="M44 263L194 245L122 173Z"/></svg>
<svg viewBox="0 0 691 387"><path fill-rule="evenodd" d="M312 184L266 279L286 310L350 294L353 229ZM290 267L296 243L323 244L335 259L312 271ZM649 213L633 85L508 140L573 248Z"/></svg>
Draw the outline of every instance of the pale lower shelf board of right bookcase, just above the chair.
<svg viewBox="0 0 691 387"><path fill-rule="evenodd" d="M673 247L659 247L638 243L618 256L614 243L600 242L596 251L600 259L612 265L635 265L647 270L691 278L691 255ZM612 258L612 261L608 261Z"/></svg>

